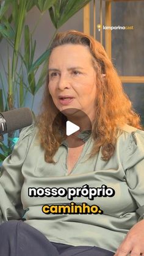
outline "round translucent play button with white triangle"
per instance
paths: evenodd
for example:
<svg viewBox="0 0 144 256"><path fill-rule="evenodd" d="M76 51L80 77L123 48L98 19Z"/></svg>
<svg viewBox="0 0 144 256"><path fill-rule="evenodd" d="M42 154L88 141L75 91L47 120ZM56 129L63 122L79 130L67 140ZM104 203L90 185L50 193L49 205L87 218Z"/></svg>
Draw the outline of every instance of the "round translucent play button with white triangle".
<svg viewBox="0 0 144 256"><path fill-rule="evenodd" d="M85 112L68 108L59 113L52 123L52 134L59 145L80 147L92 133L92 123Z"/></svg>

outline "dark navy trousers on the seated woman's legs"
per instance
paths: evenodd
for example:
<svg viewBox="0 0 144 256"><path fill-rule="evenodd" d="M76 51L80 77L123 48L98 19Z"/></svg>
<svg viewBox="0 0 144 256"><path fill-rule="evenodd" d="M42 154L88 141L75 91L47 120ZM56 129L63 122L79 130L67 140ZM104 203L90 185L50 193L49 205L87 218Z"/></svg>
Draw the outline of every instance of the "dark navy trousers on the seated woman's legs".
<svg viewBox="0 0 144 256"><path fill-rule="evenodd" d="M23 221L0 225L0 256L112 256L113 252L96 246L70 246L53 243Z"/></svg>

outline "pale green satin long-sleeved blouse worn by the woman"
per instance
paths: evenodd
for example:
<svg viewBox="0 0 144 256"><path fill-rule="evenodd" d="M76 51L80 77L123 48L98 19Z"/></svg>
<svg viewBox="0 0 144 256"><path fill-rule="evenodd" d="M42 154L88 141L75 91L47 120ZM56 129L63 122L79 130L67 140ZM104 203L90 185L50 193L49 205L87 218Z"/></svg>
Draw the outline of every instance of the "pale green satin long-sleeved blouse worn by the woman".
<svg viewBox="0 0 144 256"><path fill-rule="evenodd" d="M54 156L56 164L46 163L31 125L21 131L12 155L1 167L0 222L23 218L43 233L49 241L73 246L98 246L117 251L126 233L144 217L144 131L125 125L109 161L101 159L101 148L87 159L93 145L88 133L81 156L68 174L65 143ZM101 188L106 185L114 196L93 197L28 195L29 188ZM97 205L103 214L45 214L43 205Z"/></svg>

